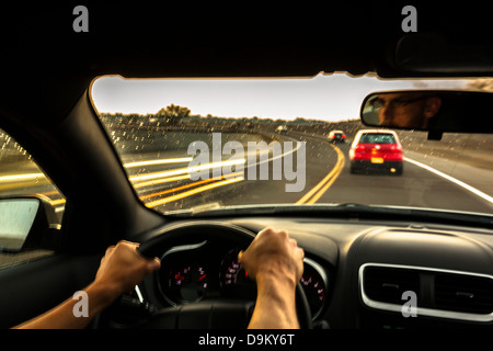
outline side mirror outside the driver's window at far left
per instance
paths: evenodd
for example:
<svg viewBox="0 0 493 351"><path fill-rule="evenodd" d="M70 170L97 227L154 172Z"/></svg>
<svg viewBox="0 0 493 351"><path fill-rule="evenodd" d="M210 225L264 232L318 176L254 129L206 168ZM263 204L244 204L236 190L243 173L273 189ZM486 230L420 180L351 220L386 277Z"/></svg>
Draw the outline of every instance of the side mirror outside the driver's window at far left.
<svg viewBox="0 0 493 351"><path fill-rule="evenodd" d="M54 207L38 197L0 199L0 251L53 249L58 240Z"/></svg>

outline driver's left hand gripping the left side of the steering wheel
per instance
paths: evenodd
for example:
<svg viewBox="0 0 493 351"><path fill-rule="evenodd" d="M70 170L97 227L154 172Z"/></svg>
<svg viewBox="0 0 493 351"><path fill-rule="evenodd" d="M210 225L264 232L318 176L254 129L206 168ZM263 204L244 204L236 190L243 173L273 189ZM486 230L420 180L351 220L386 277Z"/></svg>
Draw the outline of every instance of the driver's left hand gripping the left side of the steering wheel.
<svg viewBox="0 0 493 351"><path fill-rule="evenodd" d="M119 241L107 248L94 283L104 286L114 298L130 292L146 275L161 267L158 258L146 259L137 251L138 244Z"/></svg>

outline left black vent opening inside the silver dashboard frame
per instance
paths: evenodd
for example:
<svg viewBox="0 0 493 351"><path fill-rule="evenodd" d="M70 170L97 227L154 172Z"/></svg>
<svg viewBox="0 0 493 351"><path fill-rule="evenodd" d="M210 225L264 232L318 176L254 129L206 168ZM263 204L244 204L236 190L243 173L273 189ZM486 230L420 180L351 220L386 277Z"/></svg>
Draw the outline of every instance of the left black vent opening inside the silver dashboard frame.
<svg viewBox="0 0 493 351"><path fill-rule="evenodd" d="M420 291L417 271L393 267L366 267L363 271L363 290L375 302L402 305L402 294Z"/></svg>

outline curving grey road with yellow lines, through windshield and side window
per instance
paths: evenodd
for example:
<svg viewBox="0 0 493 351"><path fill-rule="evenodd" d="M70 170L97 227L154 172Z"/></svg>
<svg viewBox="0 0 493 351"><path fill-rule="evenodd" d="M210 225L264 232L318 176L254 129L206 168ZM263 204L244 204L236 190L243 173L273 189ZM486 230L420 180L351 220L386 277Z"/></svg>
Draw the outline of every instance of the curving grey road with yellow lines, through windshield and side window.
<svg viewBox="0 0 493 351"><path fill-rule="evenodd" d="M203 146L209 149L195 155L187 154L186 147L197 138L197 134L191 134L180 136L185 148L162 152L163 146L157 145L146 154L123 157L129 180L147 206L198 211L241 204L360 203L493 213L493 171L457 160L404 149L402 176L351 174L349 143L332 145L323 136L299 133L215 136L202 135ZM250 150L248 143L259 146L262 140L276 144L278 149L263 160L252 158L256 150ZM234 152L225 149L228 141L238 141ZM133 141L126 143L126 149L133 149ZM204 158L202 162L197 162L197 156ZM61 213L65 200L47 185L38 170L23 167L23 174L31 178L15 178L22 174L13 171L0 174L2 192L22 188L24 193L47 196ZM195 176L203 177L191 180L192 167Z"/></svg>

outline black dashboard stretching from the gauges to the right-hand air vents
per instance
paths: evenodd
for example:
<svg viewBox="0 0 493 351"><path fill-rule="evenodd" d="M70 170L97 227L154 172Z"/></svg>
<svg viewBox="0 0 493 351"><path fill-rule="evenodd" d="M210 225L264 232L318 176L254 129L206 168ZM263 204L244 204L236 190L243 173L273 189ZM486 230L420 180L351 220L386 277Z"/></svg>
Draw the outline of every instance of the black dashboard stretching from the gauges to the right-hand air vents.
<svg viewBox="0 0 493 351"><path fill-rule="evenodd" d="M316 328L493 328L491 229L334 218L213 222L252 233L284 228L297 240ZM255 284L237 259L248 245L234 236L199 238L158 248L161 269L141 284L144 298L158 308L254 302Z"/></svg>

